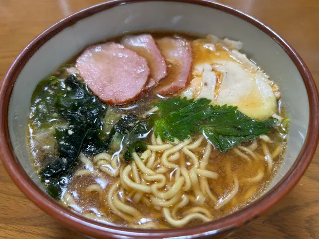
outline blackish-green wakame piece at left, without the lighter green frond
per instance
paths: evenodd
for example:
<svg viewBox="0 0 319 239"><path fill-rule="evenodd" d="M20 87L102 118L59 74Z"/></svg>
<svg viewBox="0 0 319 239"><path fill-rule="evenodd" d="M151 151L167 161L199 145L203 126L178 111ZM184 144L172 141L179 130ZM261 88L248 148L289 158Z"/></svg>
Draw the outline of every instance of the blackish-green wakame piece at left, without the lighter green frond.
<svg viewBox="0 0 319 239"><path fill-rule="evenodd" d="M52 94L58 93L52 109L69 125L55 128L59 159L43 167L40 172L43 180L68 173L82 148L88 154L107 149L107 143L99 136L106 107L73 75L64 81L64 87L65 91Z"/></svg>

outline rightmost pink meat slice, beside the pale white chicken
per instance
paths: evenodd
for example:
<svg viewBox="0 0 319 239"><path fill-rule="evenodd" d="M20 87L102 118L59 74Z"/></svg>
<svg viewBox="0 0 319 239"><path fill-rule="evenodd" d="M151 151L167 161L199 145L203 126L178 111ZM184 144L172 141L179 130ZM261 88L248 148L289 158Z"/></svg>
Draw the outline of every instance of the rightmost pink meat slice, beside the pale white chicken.
<svg viewBox="0 0 319 239"><path fill-rule="evenodd" d="M192 62L190 43L182 38L164 37L157 40L157 45L169 65L168 75L155 92L160 95L174 93L187 84Z"/></svg>

